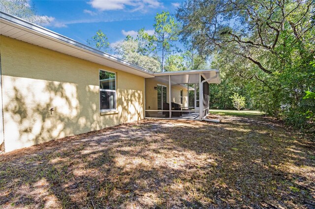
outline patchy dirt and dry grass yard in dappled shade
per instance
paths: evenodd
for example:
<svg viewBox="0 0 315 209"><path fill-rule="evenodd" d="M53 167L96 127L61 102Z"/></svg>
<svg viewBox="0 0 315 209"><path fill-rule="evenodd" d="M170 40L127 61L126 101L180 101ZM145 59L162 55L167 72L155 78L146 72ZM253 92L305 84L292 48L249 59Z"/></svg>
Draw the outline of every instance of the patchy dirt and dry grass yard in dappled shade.
<svg viewBox="0 0 315 209"><path fill-rule="evenodd" d="M0 208L315 208L315 143L260 116L143 120L0 155Z"/></svg>

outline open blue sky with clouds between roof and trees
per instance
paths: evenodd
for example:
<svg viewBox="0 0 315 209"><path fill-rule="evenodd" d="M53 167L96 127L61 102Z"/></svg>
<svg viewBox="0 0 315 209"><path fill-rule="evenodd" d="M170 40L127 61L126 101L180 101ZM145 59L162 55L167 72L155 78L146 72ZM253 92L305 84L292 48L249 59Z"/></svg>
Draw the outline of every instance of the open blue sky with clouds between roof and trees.
<svg viewBox="0 0 315 209"><path fill-rule="evenodd" d="M145 27L153 33L157 12L176 13L182 0L32 0L39 15L48 16L45 27L86 44L101 29L110 43Z"/></svg>

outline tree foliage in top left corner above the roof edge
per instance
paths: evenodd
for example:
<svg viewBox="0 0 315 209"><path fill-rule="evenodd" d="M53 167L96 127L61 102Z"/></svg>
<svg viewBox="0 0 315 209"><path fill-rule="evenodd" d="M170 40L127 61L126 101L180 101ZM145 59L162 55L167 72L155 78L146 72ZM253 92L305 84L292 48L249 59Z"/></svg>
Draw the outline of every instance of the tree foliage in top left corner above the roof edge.
<svg viewBox="0 0 315 209"><path fill-rule="evenodd" d="M29 0L0 0L0 11L41 26L50 22L47 16L37 14Z"/></svg>

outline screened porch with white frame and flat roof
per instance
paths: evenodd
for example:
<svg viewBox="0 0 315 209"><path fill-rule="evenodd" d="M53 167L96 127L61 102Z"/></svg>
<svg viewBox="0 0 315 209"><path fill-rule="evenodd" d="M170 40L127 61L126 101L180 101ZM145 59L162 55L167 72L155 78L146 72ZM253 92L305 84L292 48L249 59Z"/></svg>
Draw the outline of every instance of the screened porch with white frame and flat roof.
<svg viewBox="0 0 315 209"><path fill-rule="evenodd" d="M145 78L146 118L202 120L209 113L209 84L221 82L216 69L154 76Z"/></svg>

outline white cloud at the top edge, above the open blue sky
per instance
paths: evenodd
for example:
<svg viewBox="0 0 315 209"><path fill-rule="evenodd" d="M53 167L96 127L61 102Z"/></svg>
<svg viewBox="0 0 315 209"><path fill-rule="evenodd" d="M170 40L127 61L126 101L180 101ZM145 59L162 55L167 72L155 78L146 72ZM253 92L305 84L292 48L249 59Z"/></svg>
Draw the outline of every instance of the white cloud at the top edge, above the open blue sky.
<svg viewBox="0 0 315 209"><path fill-rule="evenodd" d="M147 8L163 7L158 0L90 0L88 3L99 11L127 9L130 12L146 12Z"/></svg>

